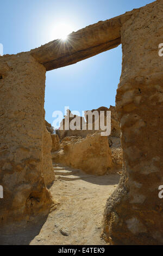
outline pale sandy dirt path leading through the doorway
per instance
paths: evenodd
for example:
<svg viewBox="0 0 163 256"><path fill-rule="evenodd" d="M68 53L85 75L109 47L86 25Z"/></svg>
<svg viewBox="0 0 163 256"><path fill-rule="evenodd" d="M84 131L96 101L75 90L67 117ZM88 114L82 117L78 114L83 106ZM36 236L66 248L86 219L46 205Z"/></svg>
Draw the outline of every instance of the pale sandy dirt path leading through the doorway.
<svg viewBox="0 0 163 256"><path fill-rule="evenodd" d="M83 180L57 180L50 188L60 202L46 220L14 236L1 237L4 245L105 245L100 238L106 199L120 176L90 176Z"/></svg>

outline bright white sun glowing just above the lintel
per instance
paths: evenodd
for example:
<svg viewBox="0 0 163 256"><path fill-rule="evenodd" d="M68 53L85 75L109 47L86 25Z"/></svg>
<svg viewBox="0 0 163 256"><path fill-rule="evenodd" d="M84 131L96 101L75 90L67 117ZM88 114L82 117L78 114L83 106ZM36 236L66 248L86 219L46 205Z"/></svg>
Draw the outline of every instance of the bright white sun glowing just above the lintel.
<svg viewBox="0 0 163 256"><path fill-rule="evenodd" d="M68 38L68 34L73 31L72 26L66 23L58 23L54 27L53 37L54 39L61 39L65 41Z"/></svg>

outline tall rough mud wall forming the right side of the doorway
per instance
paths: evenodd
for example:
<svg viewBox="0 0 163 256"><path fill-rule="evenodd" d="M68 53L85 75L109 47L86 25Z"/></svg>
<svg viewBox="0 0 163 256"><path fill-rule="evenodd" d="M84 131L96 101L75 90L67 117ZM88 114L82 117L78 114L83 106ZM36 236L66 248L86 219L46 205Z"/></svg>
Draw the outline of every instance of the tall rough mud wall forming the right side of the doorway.
<svg viewBox="0 0 163 256"><path fill-rule="evenodd" d="M163 1L122 25L122 75L116 109L122 132L123 177L106 203L104 234L111 244L163 244Z"/></svg>

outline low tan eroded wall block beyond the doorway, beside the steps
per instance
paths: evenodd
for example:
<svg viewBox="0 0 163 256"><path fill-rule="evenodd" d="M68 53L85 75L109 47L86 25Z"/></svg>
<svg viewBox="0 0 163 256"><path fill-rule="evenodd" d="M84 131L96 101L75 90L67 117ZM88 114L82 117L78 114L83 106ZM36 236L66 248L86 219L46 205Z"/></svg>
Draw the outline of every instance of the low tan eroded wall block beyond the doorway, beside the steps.
<svg viewBox="0 0 163 256"><path fill-rule="evenodd" d="M86 138L71 136L62 140L61 150L52 153L54 162L81 169L87 174L104 175L112 168L108 138L89 134Z"/></svg>

